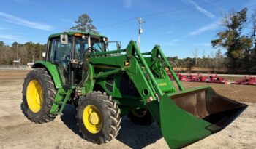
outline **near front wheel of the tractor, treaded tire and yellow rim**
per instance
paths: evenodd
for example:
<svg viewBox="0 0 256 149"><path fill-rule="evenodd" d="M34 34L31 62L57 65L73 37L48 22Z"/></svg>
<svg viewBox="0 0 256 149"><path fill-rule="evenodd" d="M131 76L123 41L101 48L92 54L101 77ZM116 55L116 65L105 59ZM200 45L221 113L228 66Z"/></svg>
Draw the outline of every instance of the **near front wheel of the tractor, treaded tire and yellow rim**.
<svg viewBox="0 0 256 149"><path fill-rule="evenodd" d="M91 92L81 97L77 121L83 138L97 144L112 140L121 129L120 109L116 101L101 92Z"/></svg>

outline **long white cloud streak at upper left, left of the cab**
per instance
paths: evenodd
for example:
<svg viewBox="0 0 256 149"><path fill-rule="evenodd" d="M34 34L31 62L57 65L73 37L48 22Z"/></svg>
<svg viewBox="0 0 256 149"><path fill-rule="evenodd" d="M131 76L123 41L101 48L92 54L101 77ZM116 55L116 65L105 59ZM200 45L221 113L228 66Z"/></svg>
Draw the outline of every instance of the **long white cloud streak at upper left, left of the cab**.
<svg viewBox="0 0 256 149"><path fill-rule="evenodd" d="M50 25L44 25L41 23L31 22L29 20L23 20L20 17L15 17L13 15L9 15L4 12L0 12L0 17L3 17L4 19L1 19L1 20L4 20L8 23L22 25L22 26L26 26L29 28L36 28L36 29L45 30L45 31L50 31L50 29L52 28Z"/></svg>

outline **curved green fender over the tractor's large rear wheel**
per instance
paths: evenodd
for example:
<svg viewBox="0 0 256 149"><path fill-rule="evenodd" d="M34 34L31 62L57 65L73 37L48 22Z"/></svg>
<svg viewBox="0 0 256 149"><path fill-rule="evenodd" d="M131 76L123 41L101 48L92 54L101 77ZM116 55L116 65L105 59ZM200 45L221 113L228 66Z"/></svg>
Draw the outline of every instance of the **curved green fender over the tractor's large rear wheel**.
<svg viewBox="0 0 256 149"><path fill-rule="evenodd" d="M50 76L53 78L56 89L62 88L62 82L56 65L53 65L50 62L39 61L34 63L34 65L32 65L32 68L45 68L50 73Z"/></svg>

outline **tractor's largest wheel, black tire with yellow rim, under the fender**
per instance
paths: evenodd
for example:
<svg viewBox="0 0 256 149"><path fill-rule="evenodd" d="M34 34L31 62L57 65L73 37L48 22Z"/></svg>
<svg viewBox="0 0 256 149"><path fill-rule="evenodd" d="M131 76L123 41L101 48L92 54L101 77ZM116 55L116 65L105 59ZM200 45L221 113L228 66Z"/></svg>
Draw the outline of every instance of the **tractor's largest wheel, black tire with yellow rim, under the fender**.
<svg viewBox="0 0 256 149"><path fill-rule="evenodd" d="M56 96L53 80L44 69L30 71L23 84L23 112L35 123L53 121L56 115L50 114Z"/></svg>

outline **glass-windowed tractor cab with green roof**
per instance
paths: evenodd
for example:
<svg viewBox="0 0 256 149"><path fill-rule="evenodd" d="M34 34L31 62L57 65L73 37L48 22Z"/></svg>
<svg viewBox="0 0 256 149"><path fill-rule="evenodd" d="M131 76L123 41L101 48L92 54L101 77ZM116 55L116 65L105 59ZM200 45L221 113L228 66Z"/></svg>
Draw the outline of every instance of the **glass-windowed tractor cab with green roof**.
<svg viewBox="0 0 256 149"><path fill-rule="evenodd" d="M86 73L86 57L106 51L107 40L105 36L80 31L56 33L49 36L45 60L57 66L62 84L69 88Z"/></svg>

